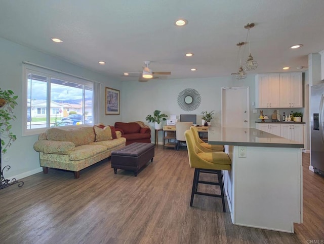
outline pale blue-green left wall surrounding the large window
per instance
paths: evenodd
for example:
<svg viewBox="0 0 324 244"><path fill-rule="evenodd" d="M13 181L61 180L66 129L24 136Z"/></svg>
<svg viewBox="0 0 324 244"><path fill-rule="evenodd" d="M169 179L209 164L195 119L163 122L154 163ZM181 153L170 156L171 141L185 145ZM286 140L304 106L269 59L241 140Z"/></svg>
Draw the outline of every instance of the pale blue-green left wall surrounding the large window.
<svg viewBox="0 0 324 244"><path fill-rule="evenodd" d="M120 121L122 119L121 115L106 116L104 112L104 87L108 86L120 90L120 82L109 80L108 77L90 71L84 67L71 64L48 54L1 38L0 53L0 87L3 90L13 90L15 94L18 95L18 106L14 110L17 120L12 122L13 133L17 135L17 140L2 158L3 166L11 166L9 171L4 172L6 179L10 180L12 177L21 179L41 170L39 167L38 153L33 149L33 144L37 140L37 135L22 136L22 61L29 61L103 83L101 89L101 122L105 124L114 124L115 121Z"/></svg>

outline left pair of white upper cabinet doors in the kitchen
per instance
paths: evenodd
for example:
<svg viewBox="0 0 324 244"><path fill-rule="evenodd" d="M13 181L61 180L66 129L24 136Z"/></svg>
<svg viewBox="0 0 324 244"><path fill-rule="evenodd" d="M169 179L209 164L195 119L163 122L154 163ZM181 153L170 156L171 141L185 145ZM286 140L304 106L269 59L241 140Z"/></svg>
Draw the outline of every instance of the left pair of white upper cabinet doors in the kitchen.
<svg viewBox="0 0 324 244"><path fill-rule="evenodd" d="M279 108L279 74L256 76L256 108Z"/></svg>

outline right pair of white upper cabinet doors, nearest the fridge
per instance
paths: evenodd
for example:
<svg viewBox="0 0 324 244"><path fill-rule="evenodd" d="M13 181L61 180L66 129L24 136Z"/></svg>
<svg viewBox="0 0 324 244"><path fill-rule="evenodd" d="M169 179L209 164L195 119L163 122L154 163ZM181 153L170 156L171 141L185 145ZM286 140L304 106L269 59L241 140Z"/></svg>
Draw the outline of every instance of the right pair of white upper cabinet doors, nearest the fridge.
<svg viewBox="0 0 324 244"><path fill-rule="evenodd" d="M303 107L302 73L280 74L280 108Z"/></svg>

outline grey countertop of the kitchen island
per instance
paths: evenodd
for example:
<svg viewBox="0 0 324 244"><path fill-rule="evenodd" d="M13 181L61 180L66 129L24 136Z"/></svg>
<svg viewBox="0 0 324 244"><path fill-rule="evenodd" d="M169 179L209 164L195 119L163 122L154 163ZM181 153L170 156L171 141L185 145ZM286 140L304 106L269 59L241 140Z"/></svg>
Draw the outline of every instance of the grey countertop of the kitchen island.
<svg viewBox="0 0 324 244"><path fill-rule="evenodd" d="M304 145L300 144L299 142L295 142L255 128L210 127L208 130L208 143L212 145L250 147L304 147Z"/></svg>

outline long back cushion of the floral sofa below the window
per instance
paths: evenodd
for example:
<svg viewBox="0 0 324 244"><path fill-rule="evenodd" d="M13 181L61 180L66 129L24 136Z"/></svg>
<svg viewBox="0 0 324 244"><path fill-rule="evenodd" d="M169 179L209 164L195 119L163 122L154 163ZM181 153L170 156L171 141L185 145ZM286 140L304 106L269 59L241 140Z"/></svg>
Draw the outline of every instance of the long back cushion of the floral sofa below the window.
<svg viewBox="0 0 324 244"><path fill-rule="evenodd" d="M73 129L50 128L46 131L49 141L71 142L74 145L86 145L95 141L95 133L92 126L77 127Z"/></svg>

